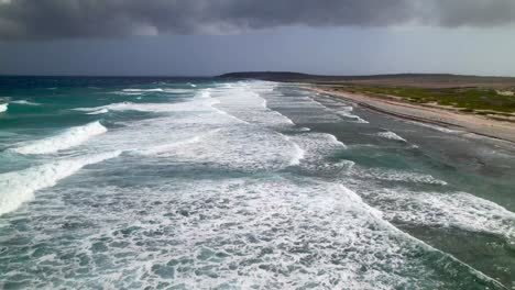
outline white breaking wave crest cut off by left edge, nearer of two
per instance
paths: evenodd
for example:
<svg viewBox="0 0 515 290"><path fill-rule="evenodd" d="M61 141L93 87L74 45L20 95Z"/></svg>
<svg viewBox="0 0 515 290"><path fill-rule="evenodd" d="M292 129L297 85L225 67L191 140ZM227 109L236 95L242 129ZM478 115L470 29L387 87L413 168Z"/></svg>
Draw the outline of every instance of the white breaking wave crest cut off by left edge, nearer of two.
<svg viewBox="0 0 515 290"><path fill-rule="evenodd" d="M35 191L53 187L58 180L74 175L84 166L114 158L120 153L59 160L0 175L0 215L14 211L22 203L32 200Z"/></svg>

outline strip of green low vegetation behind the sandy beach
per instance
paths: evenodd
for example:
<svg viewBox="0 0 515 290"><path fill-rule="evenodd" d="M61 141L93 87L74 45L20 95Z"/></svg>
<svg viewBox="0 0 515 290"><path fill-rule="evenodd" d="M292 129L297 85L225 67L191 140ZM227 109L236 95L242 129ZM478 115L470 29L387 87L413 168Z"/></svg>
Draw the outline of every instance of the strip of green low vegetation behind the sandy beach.
<svg viewBox="0 0 515 290"><path fill-rule="evenodd" d="M406 87L335 87L337 90L359 92L379 98L397 97L413 103L437 103L476 114L512 115L515 113L515 96L501 94L483 88L406 88ZM514 91L514 90L511 90Z"/></svg>

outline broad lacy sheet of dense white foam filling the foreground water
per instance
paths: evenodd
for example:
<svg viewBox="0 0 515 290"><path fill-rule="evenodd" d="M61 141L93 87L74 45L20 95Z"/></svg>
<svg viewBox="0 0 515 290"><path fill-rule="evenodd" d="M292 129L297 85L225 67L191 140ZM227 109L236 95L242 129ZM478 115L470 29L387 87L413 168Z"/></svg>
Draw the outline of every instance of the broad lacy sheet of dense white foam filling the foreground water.
<svg viewBox="0 0 515 290"><path fill-rule="evenodd" d="M130 202L90 205L106 194ZM70 287L102 281L116 289L168 282L187 289L386 290L468 288L478 285L478 277L487 280L398 231L353 191L309 178L174 179L130 190L97 186L91 197L83 198L88 202L76 202L70 210L105 226L85 230L89 235L76 242L80 250L73 258L94 254L94 245L109 255L102 255L102 267L86 259L87 275L66 281ZM41 219L40 227L52 227L55 220ZM47 259L36 257L34 263ZM69 268L66 260L53 263L58 270L52 278ZM442 274L442 267L452 274ZM84 274L83 268L69 270L75 271ZM134 275L117 279L111 272ZM442 276L460 279L442 281Z"/></svg>

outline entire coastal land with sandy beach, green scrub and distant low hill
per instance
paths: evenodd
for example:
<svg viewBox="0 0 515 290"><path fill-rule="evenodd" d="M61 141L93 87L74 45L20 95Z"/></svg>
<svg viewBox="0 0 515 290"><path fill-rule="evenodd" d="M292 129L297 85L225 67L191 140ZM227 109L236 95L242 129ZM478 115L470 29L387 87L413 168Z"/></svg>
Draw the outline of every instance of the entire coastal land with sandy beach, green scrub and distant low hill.
<svg viewBox="0 0 515 290"><path fill-rule="evenodd" d="M515 143L515 78L445 74L316 76L231 72L222 78L299 82L377 112Z"/></svg>

